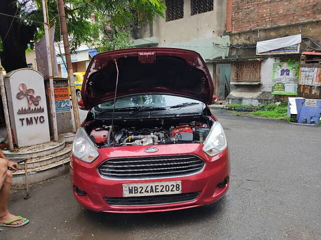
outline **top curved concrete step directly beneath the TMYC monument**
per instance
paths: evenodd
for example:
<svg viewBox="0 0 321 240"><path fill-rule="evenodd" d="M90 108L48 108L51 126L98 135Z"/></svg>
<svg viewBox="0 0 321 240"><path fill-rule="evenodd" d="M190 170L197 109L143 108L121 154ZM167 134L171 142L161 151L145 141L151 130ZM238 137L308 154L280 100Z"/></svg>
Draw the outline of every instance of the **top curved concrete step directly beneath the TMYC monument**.
<svg viewBox="0 0 321 240"><path fill-rule="evenodd" d="M4 150L3 153L7 158L37 158L47 156L64 149L66 140L64 136L59 136L58 141L50 141L34 146L17 148L14 151Z"/></svg>

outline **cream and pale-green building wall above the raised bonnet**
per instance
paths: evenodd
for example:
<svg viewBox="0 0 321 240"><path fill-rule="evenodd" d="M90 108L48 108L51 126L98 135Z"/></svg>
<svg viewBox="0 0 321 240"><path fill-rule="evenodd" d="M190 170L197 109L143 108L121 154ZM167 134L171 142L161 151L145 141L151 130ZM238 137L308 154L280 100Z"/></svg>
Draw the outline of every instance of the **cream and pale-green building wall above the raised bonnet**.
<svg viewBox="0 0 321 240"><path fill-rule="evenodd" d="M228 55L229 36L224 36L226 0L214 0L212 11L191 15L191 0L184 0L184 17L166 21L158 17L138 30L136 45L149 43L158 47L176 47L199 52L204 59ZM215 46L214 43L220 44ZM149 45L147 44L147 45Z"/></svg>

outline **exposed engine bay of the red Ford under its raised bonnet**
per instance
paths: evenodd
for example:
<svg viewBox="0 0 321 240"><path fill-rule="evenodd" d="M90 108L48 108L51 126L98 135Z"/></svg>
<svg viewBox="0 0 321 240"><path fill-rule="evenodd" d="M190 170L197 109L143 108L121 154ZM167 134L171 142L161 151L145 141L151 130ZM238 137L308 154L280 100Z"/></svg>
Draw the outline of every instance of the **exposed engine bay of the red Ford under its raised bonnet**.
<svg viewBox="0 0 321 240"><path fill-rule="evenodd" d="M113 146L145 146L157 144L203 143L214 120L175 121L159 124L95 124L87 127L91 140L99 148ZM133 126L138 125L138 126Z"/></svg>

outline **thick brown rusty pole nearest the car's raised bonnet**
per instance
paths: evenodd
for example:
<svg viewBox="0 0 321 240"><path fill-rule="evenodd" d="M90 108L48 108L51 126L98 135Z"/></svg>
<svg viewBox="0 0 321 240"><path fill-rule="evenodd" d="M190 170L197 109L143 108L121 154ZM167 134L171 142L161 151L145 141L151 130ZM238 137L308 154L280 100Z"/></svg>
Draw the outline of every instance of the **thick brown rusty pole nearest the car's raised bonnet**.
<svg viewBox="0 0 321 240"><path fill-rule="evenodd" d="M59 19L60 19L61 34L62 34L64 48L65 48L65 56L66 56L67 71L68 71L68 78L69 78L69 87L70 87L70 91L71 91L71 101L72 101L72 107L74 109L75 127L77 130L78 127L80 126L79 111L78 111L78 104L77 104L77 100L76 100L75 82L74 82L74 78L73 78L73 74L72 74L73 71L72 71L72 63L71 63L71 56L70 56L64 0L57 0L57 4L58 4Z"/></svg>

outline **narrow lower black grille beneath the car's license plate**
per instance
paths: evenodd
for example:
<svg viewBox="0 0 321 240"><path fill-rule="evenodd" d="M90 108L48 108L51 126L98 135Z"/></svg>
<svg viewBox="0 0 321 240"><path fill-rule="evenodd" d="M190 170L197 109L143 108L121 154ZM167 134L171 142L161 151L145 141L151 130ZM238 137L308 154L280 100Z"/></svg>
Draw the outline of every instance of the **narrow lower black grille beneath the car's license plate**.
<svg viewBox="0 0 321 240"><path fill-rule="evenodd" d="M130 196L130 197L104 197L110 205L126 205L126 206L141 206L141 205L155 205L155 204L169 204L177 202L185 202L195 200L200 191L156 195L156 196Z"/></svg>

